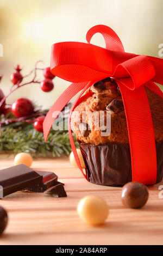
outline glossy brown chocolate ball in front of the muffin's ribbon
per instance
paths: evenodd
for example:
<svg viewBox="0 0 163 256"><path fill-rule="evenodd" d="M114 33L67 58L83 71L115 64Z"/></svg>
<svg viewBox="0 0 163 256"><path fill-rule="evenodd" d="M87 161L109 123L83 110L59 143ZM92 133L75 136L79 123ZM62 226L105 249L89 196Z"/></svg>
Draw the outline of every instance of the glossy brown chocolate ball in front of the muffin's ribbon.
<svg viewBox="0 0 163 256"><path fill-rule="evenodd" d="M148 188L140 182L128 182L122 187L122 203L128 208L141 208L148 200Z"/></svg>

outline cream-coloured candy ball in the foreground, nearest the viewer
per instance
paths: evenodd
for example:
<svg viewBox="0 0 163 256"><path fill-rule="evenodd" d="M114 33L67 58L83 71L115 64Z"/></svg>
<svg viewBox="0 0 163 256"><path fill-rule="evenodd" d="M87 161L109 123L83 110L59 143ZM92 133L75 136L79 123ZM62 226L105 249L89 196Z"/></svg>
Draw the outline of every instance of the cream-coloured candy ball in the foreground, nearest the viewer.
<svg viewBox="0 0 163 256"><path fill-rule="evenodd" d="M79 217L90 225L104 223L109 214L109 207L105 200L98 196L82 198L77 207Z"/></svg>

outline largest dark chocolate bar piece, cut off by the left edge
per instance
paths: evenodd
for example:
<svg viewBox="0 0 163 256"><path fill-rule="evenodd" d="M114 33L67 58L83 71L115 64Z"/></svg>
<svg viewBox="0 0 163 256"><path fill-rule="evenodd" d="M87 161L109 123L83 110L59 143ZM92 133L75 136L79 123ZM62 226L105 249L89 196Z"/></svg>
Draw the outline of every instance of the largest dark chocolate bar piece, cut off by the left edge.
<svg viewBox="0 0 163 256"><path fill-rule="evenodd" d="M18 164L17 166L0 170L0 198L23 190L23 188L40 184L41 181L41 174L25 164Z"/></svg>

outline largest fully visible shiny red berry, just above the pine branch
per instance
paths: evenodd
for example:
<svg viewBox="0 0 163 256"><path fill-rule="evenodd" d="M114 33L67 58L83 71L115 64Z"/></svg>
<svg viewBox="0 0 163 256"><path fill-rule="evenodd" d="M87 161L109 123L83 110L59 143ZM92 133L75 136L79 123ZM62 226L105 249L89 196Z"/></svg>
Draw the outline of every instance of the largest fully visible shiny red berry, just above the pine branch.
<svg viewBox="0 0 163 256"><path fill-rule="evenodd" d="M24 115L32 114L34 111L34 106L32 101L21 98L16 100L11 106L11 112L15 117L24 117Z"/></svg>

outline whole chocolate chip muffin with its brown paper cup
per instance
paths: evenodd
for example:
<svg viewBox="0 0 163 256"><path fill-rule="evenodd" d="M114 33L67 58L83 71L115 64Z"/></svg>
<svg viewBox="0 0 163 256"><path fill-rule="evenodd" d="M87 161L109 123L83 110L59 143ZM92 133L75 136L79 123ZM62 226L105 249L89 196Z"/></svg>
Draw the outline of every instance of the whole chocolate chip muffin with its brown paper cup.
<svg viewBox="0 0 163 256"><path fill-rule="evenodd" d="M148 88L146 93L153 119L159 182L163 176L163 99ZM80 143L90 182L122 186L132 180L126 115L114 80L105 78L86 91L72 113L71 127Z"/></svg>

